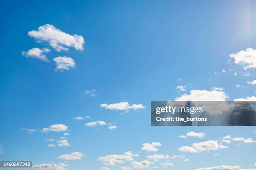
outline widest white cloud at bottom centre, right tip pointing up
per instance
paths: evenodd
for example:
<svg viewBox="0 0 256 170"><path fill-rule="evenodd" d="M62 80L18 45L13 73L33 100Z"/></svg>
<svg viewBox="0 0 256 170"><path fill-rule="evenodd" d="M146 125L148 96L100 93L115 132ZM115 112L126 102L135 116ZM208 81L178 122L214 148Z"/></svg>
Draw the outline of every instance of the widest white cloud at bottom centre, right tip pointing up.
<svg viewBox="0 0 256 170"><path fill-rule="evenodd" d="M116 163L125 163L132 161L132 157L138 157L139 155L133 155L131 151L125 152L123 155L106 155L98 158L104 165L116 165Z"/></svg>

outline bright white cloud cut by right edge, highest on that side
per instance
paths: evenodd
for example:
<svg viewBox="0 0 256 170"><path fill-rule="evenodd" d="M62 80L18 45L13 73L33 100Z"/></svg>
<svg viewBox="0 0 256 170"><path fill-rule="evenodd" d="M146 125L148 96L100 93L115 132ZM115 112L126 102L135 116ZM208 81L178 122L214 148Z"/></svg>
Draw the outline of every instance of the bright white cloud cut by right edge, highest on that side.
<svg viewBox="0 0 256 170"><path fill-rule="evenodd" d="M229 56L234 58L235 64L244 65L244 70L256 68L256 50L252 48L247 48L245 51L241 50Z"/></svg>

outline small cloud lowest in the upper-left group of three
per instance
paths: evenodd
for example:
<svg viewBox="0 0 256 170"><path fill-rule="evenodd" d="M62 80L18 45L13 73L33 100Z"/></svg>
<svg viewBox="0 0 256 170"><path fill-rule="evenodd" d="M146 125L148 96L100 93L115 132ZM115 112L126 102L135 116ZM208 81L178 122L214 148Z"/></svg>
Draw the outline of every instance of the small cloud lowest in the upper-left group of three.
<svg viewBox="0 0 256 170"><path fill-rule="evenodd" d="M69 70L70 68L74 68L76 66L76 63L74 62L74 60L70 57L55 57L54 61L56 63L56 68L55 71L61 71L63 72L63 70Z"/></svg>

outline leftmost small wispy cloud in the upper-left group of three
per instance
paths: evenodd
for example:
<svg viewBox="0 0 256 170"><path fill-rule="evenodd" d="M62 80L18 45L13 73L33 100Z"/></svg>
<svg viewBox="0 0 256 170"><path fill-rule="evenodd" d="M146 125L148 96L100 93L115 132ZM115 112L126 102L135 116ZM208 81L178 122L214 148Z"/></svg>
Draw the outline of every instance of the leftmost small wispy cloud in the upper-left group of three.
<svg viewBox="0 0 256 170"><path fill-rule="evenodd" d="M28 51L23 51L21 52L21 54L23 56L26 56L26 57L34 57L34 58L38 58L40 60L44 60L44 61L47 61L49 62L49 60L47 59L46 55L44 55L44 53L47 53L47 52L50 52L51 50L49 50L48 48L32 48Z"/></svg>

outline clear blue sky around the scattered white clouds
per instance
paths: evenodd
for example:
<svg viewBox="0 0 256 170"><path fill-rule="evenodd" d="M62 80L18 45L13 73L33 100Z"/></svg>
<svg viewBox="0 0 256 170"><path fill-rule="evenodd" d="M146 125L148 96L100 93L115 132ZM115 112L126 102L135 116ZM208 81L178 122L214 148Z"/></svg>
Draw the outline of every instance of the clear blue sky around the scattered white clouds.
<svg viewBox="0 0 256 170"><path fill-rule="evenodd" d="M256 140L255 127L150 125L151 100L175 100L182 95L193 100L255 100L255 9L255 2L249 0L3 1L0 160L56 164L55 170L135 169L141 161L150 162L143 162L148 165L144 169L195 170L220 165L255 169L249 165L256 163L256 143L245 142ZM38 27L46 24L65 32L64 38L38 37ZM35 32L29 35L32 30ZM80 36L84 43L76 41ZM58 51L59 47L68 51ZM37 56L28 52L33 48L37 48ZM248 63L252 65L249 68ZM106 107L100 107L104 103ZM119 105L110 105L113 103ZM86 126L98 120L107 125ZM110 130L109 123L117 128ZM68 128L58 126L61 132L49 128L59 124ZM49 130L42 132L43 128ZM36 132L28 133L31 129ZM205 135L178 137L192 131ZM212 140L220 145L227 135L231 143L222 142L228 146L225 149L179 150ZM237 137L241 140L234 141ZM45 140L50 138L54 141ZM58 146L58 140L67 140L70 146ZM143 144L152 142L161 143L157 152L141 150ZM48 147L50 144L55 147ZM98 160L127 151L139 156L116 165ZM84 156L58 159L74 152ZM159 161L147 158L154 154L170 157ZM173 159L174 155L185 158ZM161 163L173 165L164 168Z"/></svg>

